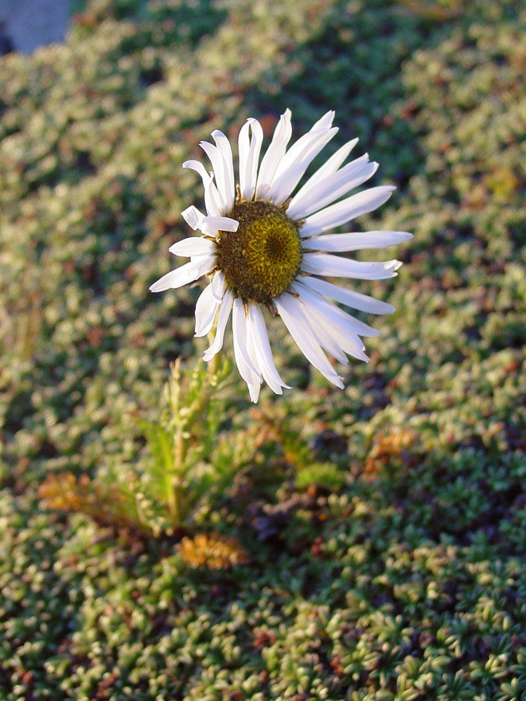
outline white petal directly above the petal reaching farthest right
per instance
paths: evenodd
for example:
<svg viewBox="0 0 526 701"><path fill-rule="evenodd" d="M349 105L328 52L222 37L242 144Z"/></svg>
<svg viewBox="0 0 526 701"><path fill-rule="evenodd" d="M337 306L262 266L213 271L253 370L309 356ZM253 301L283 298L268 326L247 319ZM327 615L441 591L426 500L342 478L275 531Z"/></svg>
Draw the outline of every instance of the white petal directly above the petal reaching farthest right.
<svg viewBox="0 0 526 701"><path fill-rule="evenodd" d="M392 185L380 185L351 195L351 197L308 217L299 234L304 237L323 233L323 231L334 229L335 226L345 224L355 217L372 212L389 200L395 189Z"/></svg>

